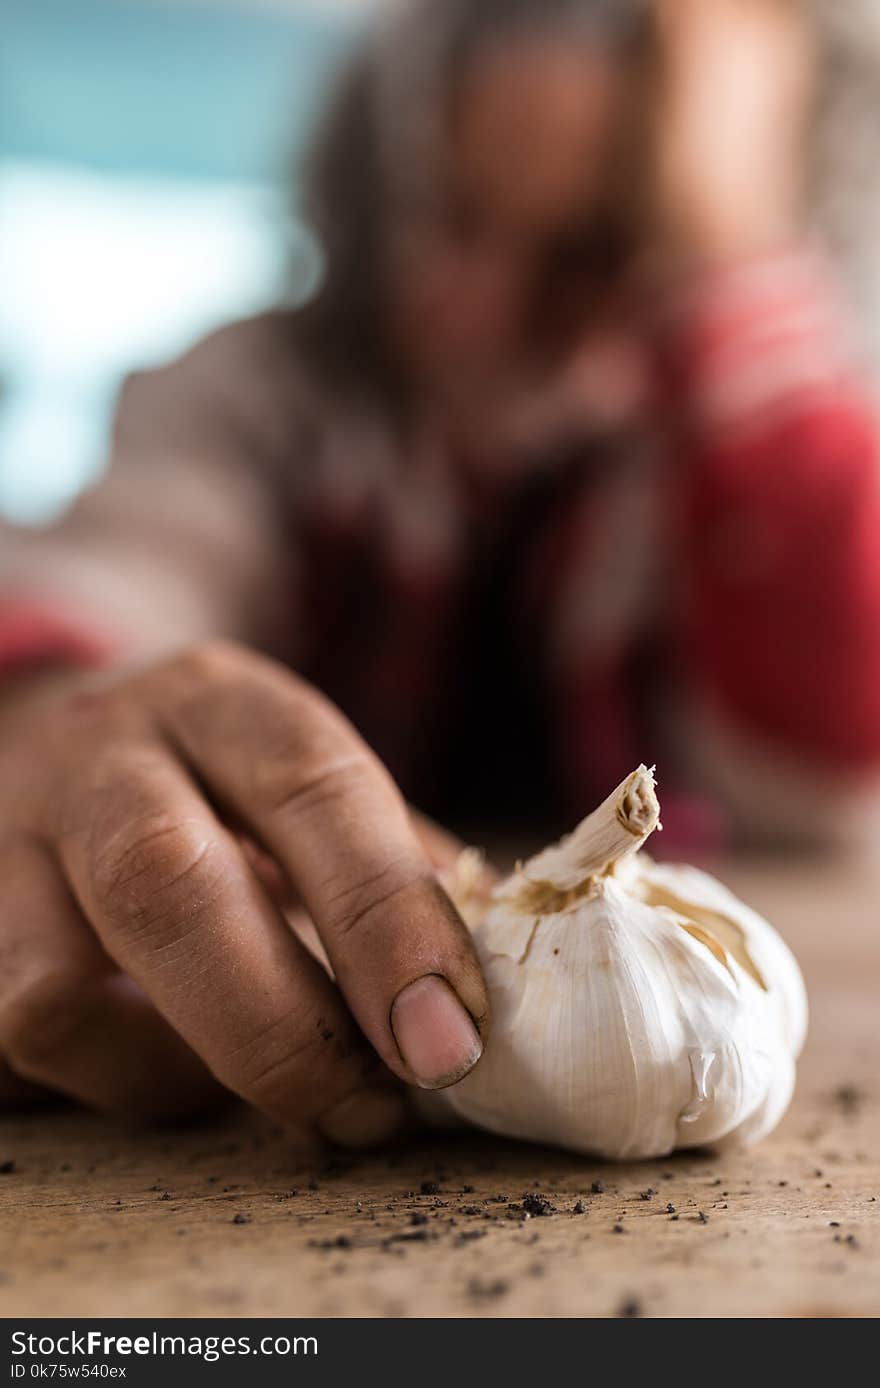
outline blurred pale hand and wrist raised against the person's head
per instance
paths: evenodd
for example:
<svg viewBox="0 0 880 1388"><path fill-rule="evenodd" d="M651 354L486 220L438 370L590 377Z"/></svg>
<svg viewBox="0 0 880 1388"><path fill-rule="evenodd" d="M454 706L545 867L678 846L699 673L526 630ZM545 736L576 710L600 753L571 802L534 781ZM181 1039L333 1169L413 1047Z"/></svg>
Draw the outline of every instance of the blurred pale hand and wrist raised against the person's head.
<svg viewBox="0 0 880 1388"><path fill-rule="evenodd" d="M815 39L799 0L655 0L648 180L661 239L723 265L802 212Z"/></svg>

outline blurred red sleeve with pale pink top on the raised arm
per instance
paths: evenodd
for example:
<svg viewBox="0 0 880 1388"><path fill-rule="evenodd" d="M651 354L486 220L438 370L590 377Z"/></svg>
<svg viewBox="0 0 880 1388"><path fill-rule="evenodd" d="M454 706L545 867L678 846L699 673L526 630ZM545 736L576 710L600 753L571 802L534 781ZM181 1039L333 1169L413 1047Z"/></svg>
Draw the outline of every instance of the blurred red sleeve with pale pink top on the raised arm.
<svg viewBox="0 0 880 1388"><path fill-rule="evenodd" d="M808 254L740 268L666 332L693 679L777 744L880 763L880 433L830 279Z"/></svg>

